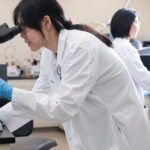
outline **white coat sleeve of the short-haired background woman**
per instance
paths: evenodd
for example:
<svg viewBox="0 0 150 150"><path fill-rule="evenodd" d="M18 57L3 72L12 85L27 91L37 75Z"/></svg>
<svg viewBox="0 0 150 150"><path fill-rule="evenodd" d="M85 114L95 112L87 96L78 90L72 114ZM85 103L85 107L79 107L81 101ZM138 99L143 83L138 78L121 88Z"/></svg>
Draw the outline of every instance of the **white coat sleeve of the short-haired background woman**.
<svg viewBox="0 0 150 150"><path fill-rule="evenodd" d="M120 57L126 64L132 79L136 84L150 91L150 71L143 65L137 50L129 45L122 51Z"/></svg>

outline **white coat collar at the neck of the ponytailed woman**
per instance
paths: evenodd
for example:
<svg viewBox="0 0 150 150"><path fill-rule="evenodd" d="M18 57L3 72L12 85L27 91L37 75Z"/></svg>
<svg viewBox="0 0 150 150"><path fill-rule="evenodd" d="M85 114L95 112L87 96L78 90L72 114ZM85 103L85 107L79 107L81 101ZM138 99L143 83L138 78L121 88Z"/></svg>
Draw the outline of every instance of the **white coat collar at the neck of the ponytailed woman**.
<svg viewBox="0 0 150 150"><path fill-rule="evenodd" d="M69 31L66 29L61 30L59 33L56 66L62 65L62 60L64 56L64 51L65 51L66 38L67 38L68 33Z"/></svg>

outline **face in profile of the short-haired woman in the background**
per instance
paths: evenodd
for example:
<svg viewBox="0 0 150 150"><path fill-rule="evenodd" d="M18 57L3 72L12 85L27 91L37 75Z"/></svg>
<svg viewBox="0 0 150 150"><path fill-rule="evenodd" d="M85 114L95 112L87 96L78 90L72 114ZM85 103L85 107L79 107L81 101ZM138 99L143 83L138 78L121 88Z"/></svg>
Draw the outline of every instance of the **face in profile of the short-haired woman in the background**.
<svg viewBox="0 0 150 150"><path fill-rule="evenodd" d="M129 33L130 40L134 40L136 38L139 29L140 29L140 22L139 22L139 18L136 17L130 28L130 33Z"/></svg>

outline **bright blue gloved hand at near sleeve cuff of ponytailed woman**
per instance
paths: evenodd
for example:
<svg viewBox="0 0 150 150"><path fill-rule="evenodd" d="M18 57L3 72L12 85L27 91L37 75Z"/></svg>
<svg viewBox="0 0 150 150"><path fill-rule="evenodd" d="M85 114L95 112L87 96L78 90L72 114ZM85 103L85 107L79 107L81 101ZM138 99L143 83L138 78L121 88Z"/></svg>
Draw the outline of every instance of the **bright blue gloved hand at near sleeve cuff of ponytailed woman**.
<svg viewBox="0 0 150 150"><path fill-rule="evenodd" d="M0 78L0 98L5 98L11 101L13 87Z"/></svg>

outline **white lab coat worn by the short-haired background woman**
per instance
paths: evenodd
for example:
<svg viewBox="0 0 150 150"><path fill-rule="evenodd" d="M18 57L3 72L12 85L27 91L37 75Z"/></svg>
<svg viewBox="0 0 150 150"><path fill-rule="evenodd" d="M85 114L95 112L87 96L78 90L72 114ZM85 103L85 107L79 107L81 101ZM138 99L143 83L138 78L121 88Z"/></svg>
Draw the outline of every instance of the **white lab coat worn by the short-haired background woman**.
<svg viewBox="0 0 150 150"><path fill-rule="evenodd" d="M126 67L135 83L141 102L144 104L145 90L150 91L150 72L143 65L135 47L125 38L115 38L113 41L115 51L126 64Z"/></svg>

